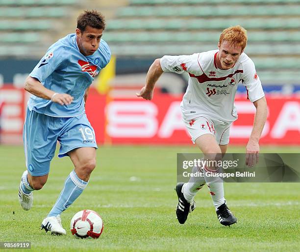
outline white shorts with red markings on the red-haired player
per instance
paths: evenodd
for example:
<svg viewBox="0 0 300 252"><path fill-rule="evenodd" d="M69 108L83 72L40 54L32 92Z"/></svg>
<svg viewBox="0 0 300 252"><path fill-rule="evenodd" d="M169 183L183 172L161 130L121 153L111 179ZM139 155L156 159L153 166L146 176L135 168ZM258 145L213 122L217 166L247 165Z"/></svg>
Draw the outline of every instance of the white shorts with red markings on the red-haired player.
<svg viewBox="0 0 300 252"><path fill-rule="evenodd" d="M199 116L194 119L183 119L187 130L192 137L192 142L205 134L211 134L216 137L216 141L219 145L225 145L229 143L229 130L231 123L210 118L208 116Z"/></svg>

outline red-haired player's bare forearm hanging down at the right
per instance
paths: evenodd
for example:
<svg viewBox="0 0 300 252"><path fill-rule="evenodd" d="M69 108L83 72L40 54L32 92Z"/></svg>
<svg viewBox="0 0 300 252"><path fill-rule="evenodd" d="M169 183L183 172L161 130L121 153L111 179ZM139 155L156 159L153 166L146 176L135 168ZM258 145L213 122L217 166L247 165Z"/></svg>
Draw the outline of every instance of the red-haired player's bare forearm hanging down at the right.
<svg viewBox="0 0 300 252"><path fill-rule="evenodd" d="M252 132L246 147L246 164L248 166L254 166L255 163L258 163L258 142L268 115L267 100L265 96L254 101L253 104L256 108L256 113Z"/></svg>

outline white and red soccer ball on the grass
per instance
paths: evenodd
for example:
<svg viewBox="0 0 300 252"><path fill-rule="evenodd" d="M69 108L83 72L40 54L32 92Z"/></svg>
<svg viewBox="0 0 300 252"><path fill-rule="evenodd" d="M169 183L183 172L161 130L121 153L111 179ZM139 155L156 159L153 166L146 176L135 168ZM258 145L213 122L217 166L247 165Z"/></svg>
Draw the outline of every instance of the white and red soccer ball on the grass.
<svg viewBox="0 0 300 252"><path fill-rule="evenodd" d="M70 228L76 238L98 239L103 231L103 221L97 212L86 209L73 216Z"/></svg>

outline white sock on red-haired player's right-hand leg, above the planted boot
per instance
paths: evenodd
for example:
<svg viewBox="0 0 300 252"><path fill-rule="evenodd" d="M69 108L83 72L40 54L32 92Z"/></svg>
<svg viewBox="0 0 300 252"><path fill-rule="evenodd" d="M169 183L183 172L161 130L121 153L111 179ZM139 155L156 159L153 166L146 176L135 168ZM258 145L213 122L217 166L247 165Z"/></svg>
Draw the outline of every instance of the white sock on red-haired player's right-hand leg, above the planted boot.
<svg viewBox="0 0 300 252"><path fill-rule="evenodd" d="M219 206L225 203L223 181L219 177L208 177L207 174L213 174L217 172L218 171L212 171L207 169L207 167L204 167L204 179L207 183L207 187L216 210Z"/></svg>

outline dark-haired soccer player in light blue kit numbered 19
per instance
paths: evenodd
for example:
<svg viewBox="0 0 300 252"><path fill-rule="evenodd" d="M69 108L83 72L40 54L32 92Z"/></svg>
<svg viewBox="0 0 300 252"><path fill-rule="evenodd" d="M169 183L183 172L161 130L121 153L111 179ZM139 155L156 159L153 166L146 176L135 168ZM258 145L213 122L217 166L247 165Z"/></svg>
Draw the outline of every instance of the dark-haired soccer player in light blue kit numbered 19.
<svg viewBox="0 0 300 252"><path fill-rule="evenodd" d="M42 222L46 232L66 234L60 214L82 193L96 165L97 144L85 102L94 77L110 60L110 49L101 40L104 29L105 20L99 12L80 14L76 33L50 46L25 81L25 90L33 95L23 132L26 170L19 187L23 209L32 207L32 192L47 182L57 140L58 156L69 156L75 167Z"/></svg>

